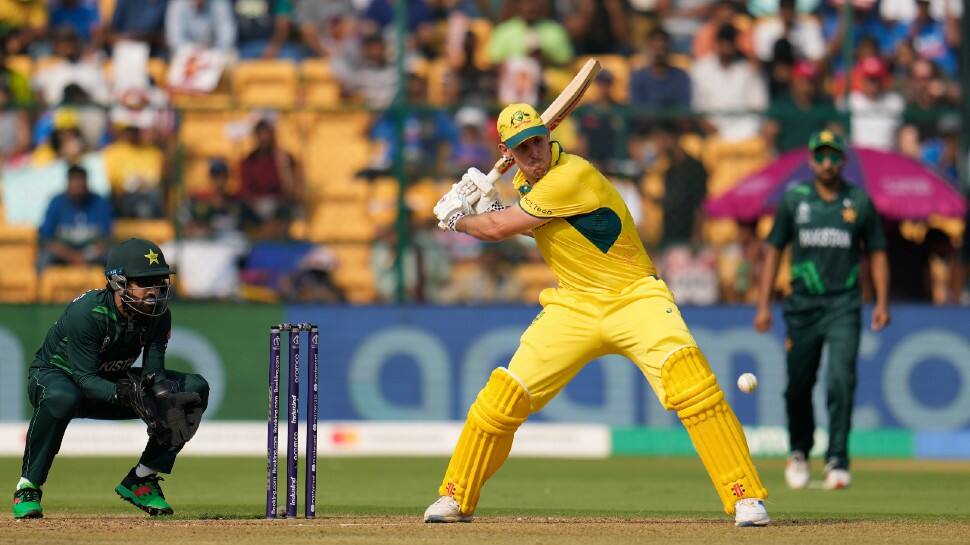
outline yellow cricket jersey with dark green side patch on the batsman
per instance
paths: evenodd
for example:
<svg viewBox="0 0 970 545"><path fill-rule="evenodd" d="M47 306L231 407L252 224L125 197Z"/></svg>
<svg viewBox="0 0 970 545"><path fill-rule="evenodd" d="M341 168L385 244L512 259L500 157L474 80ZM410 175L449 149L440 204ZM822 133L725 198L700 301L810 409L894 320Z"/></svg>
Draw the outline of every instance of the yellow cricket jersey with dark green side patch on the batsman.
<svg viewBox="0 0 970 545"><path fill-rule="evenodd" d="M619 192L589 161L553 142L549 172L530 186L519 171L512 183L522 210L555 218L533 235L560 288L617 293L655 274Z"/></svg>

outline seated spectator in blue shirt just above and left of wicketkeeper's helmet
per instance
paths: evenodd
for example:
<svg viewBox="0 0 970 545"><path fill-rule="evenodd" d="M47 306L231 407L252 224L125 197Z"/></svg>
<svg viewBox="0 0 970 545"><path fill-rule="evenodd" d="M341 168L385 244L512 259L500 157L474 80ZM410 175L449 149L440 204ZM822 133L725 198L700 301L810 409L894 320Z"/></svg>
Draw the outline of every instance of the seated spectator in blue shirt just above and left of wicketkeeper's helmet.
<svg viewBox="0 0 970 545"><path fill-rule="evenodd" d="M103 265L111 235L111 205L88 191L88 173L67 171L67 190L47 206L40 226L38 268L48 265Z"/></svg>

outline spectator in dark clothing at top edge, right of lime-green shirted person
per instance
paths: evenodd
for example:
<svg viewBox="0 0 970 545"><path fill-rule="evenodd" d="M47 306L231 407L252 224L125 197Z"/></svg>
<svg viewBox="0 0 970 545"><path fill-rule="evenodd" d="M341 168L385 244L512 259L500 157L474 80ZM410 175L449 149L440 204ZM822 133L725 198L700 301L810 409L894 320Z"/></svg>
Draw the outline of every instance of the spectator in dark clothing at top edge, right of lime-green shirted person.
<svg viewBox="0 0 970 545"><path fill-rule="evenodd" d="M576 55L629 55L630 8L625 0L559 0L559 20Z"/></svg>

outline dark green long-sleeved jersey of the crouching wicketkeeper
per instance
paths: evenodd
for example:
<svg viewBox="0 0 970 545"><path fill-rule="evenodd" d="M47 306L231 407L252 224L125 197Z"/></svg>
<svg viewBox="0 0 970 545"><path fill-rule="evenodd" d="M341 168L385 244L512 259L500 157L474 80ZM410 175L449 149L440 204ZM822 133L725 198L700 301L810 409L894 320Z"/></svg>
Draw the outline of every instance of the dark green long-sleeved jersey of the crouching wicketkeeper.
<svg viewBox="0 0 970 545"><path fill-rule="evenodd" d="M47 331L32 367L56 367L69 373L85 396L108 401L115 382L144 351L145 369L165 367L172 314L126 318L106 289L84 293L64 309Z"/></svg>

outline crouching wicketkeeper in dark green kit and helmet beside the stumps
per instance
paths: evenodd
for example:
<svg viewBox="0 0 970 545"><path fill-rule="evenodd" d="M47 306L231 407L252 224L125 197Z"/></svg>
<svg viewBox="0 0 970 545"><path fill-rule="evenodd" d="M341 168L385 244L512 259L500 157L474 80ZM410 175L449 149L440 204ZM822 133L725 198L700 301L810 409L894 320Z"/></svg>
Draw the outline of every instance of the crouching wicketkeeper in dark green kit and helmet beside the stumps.
<svg viewBox="0 0 970 545"><path fill-rule="evenodd" d="M172 471L198 429L209 385L199 375L165 369L171 274L157 245L126 240L108 254L107 286L80 295L48 330L27 373L34 413L14 518L43 516L42 487L74 418L144 420L148 444L115 492L149 515L173 513L158 473ZM142 367L132 368L140 355Z"/></svg>

